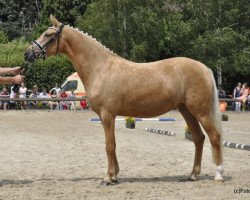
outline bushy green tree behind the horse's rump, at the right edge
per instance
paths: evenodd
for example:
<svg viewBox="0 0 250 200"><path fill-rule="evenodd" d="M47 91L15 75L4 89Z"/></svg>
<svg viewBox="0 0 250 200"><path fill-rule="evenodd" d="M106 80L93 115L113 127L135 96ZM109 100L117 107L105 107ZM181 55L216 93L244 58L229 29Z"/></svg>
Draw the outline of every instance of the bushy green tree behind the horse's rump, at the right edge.
<svg viewBox="0 0 250 200"><path fill-rule="evenodd" d="M166 22L165 57L188 56L222 69L223 87L250 82L247 1L173 0L180 8Z"/></svg>

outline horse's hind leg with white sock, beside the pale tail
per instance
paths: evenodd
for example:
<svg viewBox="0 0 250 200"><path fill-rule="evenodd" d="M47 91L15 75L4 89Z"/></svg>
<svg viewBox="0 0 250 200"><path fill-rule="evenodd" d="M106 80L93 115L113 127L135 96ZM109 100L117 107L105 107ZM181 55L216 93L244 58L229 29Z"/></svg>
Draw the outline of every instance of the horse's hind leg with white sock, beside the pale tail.
<svg viewBox="0 0 250 200"><path fill-rule="evenodd" d="M217 119L220 120L220 119ZM221 144L221 133L216 129L216 122L210 117L210 115L206 115L203 117L199 117L199 122L207 132L210 143L212 145L212 154L213 160L217 166L216 174L214 180L222 181L222 144ZM220 123L220 122L217 122Z"/></svg>

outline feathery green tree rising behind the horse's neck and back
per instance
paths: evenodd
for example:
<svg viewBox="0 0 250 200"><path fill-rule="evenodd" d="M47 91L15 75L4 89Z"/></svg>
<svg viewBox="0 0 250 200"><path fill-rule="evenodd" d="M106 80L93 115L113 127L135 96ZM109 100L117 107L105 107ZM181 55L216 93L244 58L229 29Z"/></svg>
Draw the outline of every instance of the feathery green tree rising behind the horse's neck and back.
<svg viewBox="0 0 250 200"><path fill-rule="evenodd" d="M119 55L152 61L159 59L165 14L163 0L99 0L77 25Z"/></svg>

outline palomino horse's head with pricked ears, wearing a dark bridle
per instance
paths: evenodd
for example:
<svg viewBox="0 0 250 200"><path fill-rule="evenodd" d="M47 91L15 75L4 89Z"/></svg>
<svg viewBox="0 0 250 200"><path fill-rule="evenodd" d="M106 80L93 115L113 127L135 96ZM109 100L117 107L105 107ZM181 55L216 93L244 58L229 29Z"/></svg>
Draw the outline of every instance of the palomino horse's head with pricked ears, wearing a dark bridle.
<svg viewBox="0 0 250 200"><path fill-rule="evenodd" d="M30 47L24 53L24 59L28 62L34 62L36 59L55 55L60 46L60 35L64 25L53 15L50 15L52 27L49 27L37 40L32 42Z"/></svg>

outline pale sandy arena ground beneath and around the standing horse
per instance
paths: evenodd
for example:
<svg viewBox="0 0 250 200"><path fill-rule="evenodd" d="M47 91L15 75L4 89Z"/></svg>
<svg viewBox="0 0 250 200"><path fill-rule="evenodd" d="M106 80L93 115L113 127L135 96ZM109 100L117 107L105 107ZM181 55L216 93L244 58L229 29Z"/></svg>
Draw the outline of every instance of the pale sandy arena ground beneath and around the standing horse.
<svg viewBox="0 0 250 200"><path fill-rule="evenodd" d="M224 140L250 144L250 112L227 112ZM99 187L107 159L102 125L91 111L1 111L1 200L250 199L250 151L224 148L224 183L214 182L207 135L199 181L185 181L194 144L176 122L138 122L135 130L116 123L119 184ZM174 131L176 136L145 132ZM243 189L243 191L241 190Z"/></svg>

